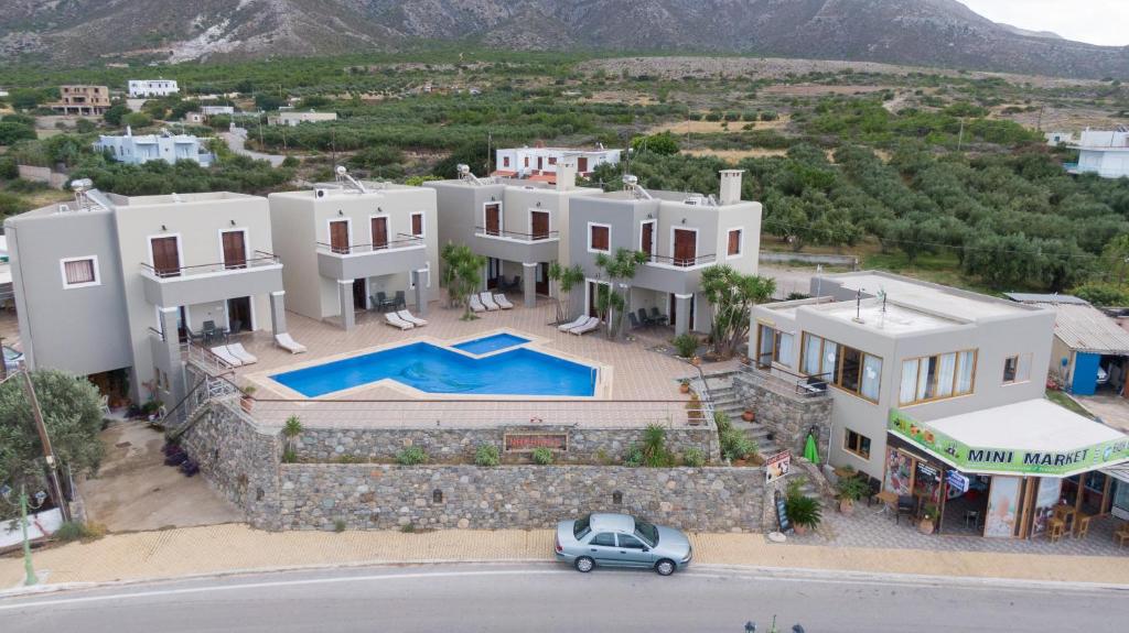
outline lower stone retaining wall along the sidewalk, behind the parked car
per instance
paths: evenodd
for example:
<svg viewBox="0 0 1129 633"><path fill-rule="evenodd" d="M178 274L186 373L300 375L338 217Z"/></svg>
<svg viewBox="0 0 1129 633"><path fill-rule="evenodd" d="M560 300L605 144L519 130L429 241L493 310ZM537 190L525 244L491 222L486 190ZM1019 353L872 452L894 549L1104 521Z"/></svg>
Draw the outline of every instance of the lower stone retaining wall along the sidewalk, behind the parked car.
<svg viewBox="0 0 1129 633"><path fill-rule="evenodd" d="M765 499L764 471L734 467L283 464L280 481L283 529L544 528L611 511L760 532Z"/></svg>

